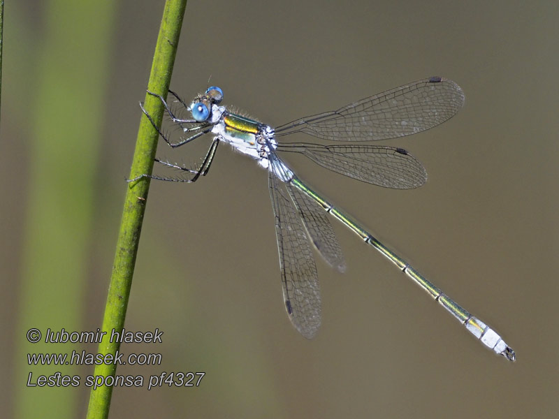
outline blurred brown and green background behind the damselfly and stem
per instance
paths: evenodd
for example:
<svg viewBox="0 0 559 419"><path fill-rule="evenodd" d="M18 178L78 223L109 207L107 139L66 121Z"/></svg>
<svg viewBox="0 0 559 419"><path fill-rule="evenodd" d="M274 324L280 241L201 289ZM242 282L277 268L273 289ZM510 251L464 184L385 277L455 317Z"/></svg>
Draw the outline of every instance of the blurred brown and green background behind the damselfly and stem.
<svg viewBox="0 0 559 419"><path fill-rule="evenodd" d="M27 388L56 371L32 327L101 326L163 1L6 1L0 128L1 416L84 417L89 388ZM157 366L198 388L116 388L112 418L552 418L558 411L559 119L555 1L190 1L171 87L210 85L271 125L431 75L465 108L387 142L429 181L392 191L287 156L517 353L487 351L391 263L340 225L337 274L317 258L323 325L286 316L266 172L219 147L191 185L152 182L126 328L164 331ZM308 140L309 138L307 138ZM293 138L293 140L305 140ZM192 163L197 140L159 156Z"/></svg>

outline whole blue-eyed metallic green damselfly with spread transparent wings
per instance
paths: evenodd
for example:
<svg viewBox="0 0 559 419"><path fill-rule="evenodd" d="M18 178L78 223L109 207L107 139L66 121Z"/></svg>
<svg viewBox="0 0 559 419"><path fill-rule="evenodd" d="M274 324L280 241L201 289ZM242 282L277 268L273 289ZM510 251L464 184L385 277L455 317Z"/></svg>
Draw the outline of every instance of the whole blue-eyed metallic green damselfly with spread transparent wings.
<svg viewBox="0 0 559 419"><path fill-rule="evenodd" d="M214 138L201 166L196 170L156 159L164 166L182 171L187 177L140 175L131 179L131 182L142 177L195 182L201 175L208 174L219 142L227 142L268 170L284 303L291 323L301 335L309 339L314 337L321 323L319 280L311 243L328 265L340 272L345 269L340 244L326 215L331 214L361 240L389 258L465 325L481 343L514 361L514 351L495 330L456 304L363 226L311 189L278 156L278 152L299 153L324 168L362 182L394 189L416 188L426 182L426 170L405 149L349 142L402 137L442 124L456 115L464 104L464 94L458 84L440 77L418 80L350 103L338 110L300 118L277 128L229 112L220 106L223 91L219 87L210 87L189 104L169 91L176 99L175 105L191 112L191 119L175 116L162 96L149 93L159 97L171 122L177 124L185 135L179 141L171 142L142 107L168 145L179 147L209 133ZM305 133L321 140L344 144L282 143L277 140L293 133Z"/></svg>

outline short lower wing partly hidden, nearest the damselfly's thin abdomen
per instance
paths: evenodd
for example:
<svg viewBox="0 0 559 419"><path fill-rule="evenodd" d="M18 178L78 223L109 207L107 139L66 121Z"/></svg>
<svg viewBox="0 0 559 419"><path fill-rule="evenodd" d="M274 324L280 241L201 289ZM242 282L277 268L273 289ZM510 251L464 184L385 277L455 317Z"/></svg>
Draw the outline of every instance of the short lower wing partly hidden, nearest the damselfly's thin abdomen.
<svg viewBox="0 0 559 419"><path fill-rule="evenodd" d="M340 243L332 228L326 211L315 200L299 189L286 184L287 191L295 203L300 218L307 229L312 244L328 265L340 272L345 271L345 260Z"/></svg>

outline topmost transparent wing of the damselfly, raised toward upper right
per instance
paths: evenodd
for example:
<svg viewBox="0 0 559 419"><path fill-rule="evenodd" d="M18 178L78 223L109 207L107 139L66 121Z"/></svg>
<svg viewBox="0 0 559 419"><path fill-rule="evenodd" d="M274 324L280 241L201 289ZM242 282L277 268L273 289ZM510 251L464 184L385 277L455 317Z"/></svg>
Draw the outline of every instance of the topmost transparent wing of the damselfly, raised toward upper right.
<svg viewBox="0 0 559 419"><path fill-rule="evenodd" d="M324 140L385 140L425 131L447 121L464 104L460 86L432 77L364 98L343 108L297 119L276 135L302 132Z"/></svg>

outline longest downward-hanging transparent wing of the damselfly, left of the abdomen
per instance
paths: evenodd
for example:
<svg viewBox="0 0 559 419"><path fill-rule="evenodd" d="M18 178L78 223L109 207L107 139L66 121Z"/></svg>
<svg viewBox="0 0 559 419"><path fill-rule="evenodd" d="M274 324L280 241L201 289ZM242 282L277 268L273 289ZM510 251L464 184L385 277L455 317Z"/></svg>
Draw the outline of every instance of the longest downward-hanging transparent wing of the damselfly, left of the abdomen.
<svg viewBox="0 0 559 419"><path fill-rule="evenodd" d="M317 265L305 228L270 162L268 186L275 215L275 233L282 274L284 302L289 320L307 339L320 327L321 303Z"/></svg>

